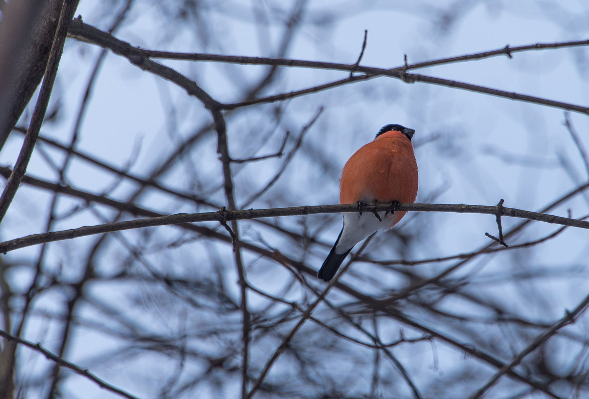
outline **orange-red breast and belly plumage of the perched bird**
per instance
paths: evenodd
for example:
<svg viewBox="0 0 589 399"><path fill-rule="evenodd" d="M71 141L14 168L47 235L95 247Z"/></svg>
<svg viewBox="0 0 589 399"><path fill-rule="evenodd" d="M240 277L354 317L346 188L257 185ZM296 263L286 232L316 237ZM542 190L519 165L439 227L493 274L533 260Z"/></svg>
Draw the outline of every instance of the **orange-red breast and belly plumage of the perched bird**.
<svg viewBox="0 0 589 399"><path fill-rule="evenodd" d="M353 154L342 170L339 202L413 203L418 170L413 146L403 133L388 131ZM395 212L395 225L406 212Z"/></svg>

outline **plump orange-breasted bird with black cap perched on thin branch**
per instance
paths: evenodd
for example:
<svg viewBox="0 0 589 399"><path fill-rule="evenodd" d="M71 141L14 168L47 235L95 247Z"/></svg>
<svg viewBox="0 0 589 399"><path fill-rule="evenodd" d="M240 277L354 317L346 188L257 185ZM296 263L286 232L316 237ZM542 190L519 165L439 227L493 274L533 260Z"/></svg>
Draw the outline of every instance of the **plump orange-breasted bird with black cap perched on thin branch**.
<svg viewBox="0 0 589 399"><path fill-rule="evenodd" d="M342 230L318 278L329 282L357 243L378 230L390 229L405 216L405 211L395 212L399 203L415 202L418 169L413 134L415 130L399 124L383 126L373 141L346 162L339 181L339 203L357 203L359 212L343 214ZM362 213L362 205L370 202L391 202L391 211Z"/></svg>

